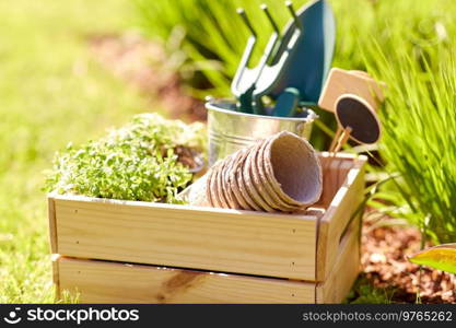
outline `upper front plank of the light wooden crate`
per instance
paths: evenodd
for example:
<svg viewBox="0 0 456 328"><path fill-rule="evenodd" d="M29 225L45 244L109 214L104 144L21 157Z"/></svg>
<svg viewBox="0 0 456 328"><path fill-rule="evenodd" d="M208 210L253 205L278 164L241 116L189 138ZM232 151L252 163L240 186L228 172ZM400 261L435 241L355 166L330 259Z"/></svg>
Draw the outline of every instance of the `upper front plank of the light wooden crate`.
<svg viewBox="0 0 456 328"><path fill-rule="evenodd" d="M79 209L79 214L74 214L74 209ZM81 209L89 209L91 211L96 212L86 212L85 216L86 222L84 221L81 224L81 220L78 220L78 215L81 215L84 211L81 211ZM122 208L122 209L121 209ZM128 220L125 221L126 225L129 224L130 218L135 214L133 212L141 212L144 211L148 214L151 212L152 215L157 211L155 208L130 208L128 206L121 206L121 216L127 218ZM63 215L63 210L67 212L68 215ZM211 230L203 229L201 230L201 236L204 238L208 238L207 241L210 241L211 244L215 248L207 248L207 245L200 243L200 239L195 239L196 237L188 236L188 233L182 233L180 235L177 235L178 241L184 241L176 244L176 239L173 242L173 244L169 244L167 241L166 243L162 243L160 241L160 237L150 238L151 234L149 233L142 233L144 230L142 229L141 224L136 225L135 230L130 230L130 232L138 232L138 236L140 238L130 238L128 235L125 235L125 230L118 230L119 232L116 233L116 237L113 238L113 233L109 231L109 224L110 221L107 220L105 224L102 224L101 227L103 230L100 230L100 234L104 234L105 232L109 232L110 235L108 238L105 238L106 243L103 242L103 238L101 242L94 242L95 237L97 237L97 234L92 234L93 226L91 227L92 222L94 223L94 226L97 224L96 214L97 213L107 213L106 211L112 211L114 214L120 213L118 212L119 208L112 207L108 203L94 203L94 202L77 202L77 201L70 201L70 200L56 200L56 213L57 213L57 223L59 227L59 254L63 256L70 256L70 257L77 257L77 258L93 258L93 259L101 259L101 260L114 260L114 261L124 261L124 262L137 262L137 263L148 263L148 265L159 265L159 266L171 266L171 267L185 267L185 268L197 268L200 270L215 270L215 271L222 271L222 272L236 272L236 273L246 273L246 274L256 274L256 276L270 276L270 277L280 277L280 278L291 278L291 279L305 279L305 280L315 280L315 222L317 220L317 216L312 215L307 216L312 220L303 220L302 216L297 216L294 219L283 220L283 216L272 216L272 218L266 218L266 216L255 216L252 215L245 216L245 215L226 215L226 214L220 214L220 213L208 213L204 212L204 220L202 221L202 226L209 226L206 222L210 224L209 227ZM191 223L191 220L197 220L198 214L191 211L185 211L185 210L160 210L162 213L159 215L160 218L167 218L175 215L177 219L182 222L185 222L188 227L191 229L191 225L188 225L189 222ZM172 213L175 211L176 213ZM313 211L315 214L320 214L321 211ZM89 213L89 214L87 214ZM187 215L190 218L190 220L183 220L183 215ZM109 218L108 213L106 214L106 218ZM235 218L234 218L235 216ZM148 222L152 220L153 218L148 218L147 215L142 215L144 222ZM245 220L245 218L252 218L253 220ZM184 218L185 219L185 218ZM221 219L221 220L217 220ZM233 221L233 219L236 219ZM121 219L124 220L124 219ZM152 220L153 221L153 220ZM265 222L268 222L268 224L265 224ZM68 223L68 225L77 226L74 231L78 232L79 235L75 233L67 234L65 235L65 222ZM124 222L124 221L122 221ZM160 219L157 222L164 222L162 219ZM224 237L224 233L221 232L221 227L226 227L230 230L231 226L233 226L233 222L238 222L241 225L248 225L248 234L241 235L241 237L237 237L239 241L239 245L247 245L249 246L249 243L257 243L257 245L254 245L253 250L248 249L249 253L247 254L236 254L235 251L242 251L243 249L239 247L233 246L233 243ZM271 224L270 224L271 223ZM279 224L278 227L281 225L287 226L288 229L279 229L279 230L271 230L273 227L273 224ZM270 225L270 226L269 226ZM166 225L162 224L163 231L165 231L167 227ZM212 229L213 227L213 229ZM300 229L303 227L303 229ZM61 229L61 231L60 231ZM106 230L107 229L107 230ZM218 230L215 230L218 229ZM258 235L259 229L264 229L265 234ZM296 234L294 229L296 229ZM155 230L156 231L156 230ZM177 230L178 232L182 230ZM199 234L199 232L196 232ZM270 247L268 245L271 245L270 243L278 243L273 238L270 238L267 236L267 234L270 234L273 236L280 236L282 238L282 242L289 242L289 237L292 237L294 250L291 251L289 248L283 247L284 254L287 254L287 258L282 256L278 256L277 254L270 251ZM301 234L301 237L300 237ZM131 234L130 234L131 235ZM233 233L227 234L226 236L233 235ZM85 238L85 242L80 238ZM155 236L155 235L154 235ZM247 237L246 237L247 236ZM257 237L258 236L258 237ZM305 236L303 239L302 236ZM222 243L220 242L220 238L223 238ZM255 239L257 237L257 241ZM117 239L116 239L117 238ZM157 239L159 242L155 243L154 241ZM276 238L277 239L277 238ZM120 241L120 242L119 242ZM140 241L138 244L142 244L141 247L137 247L136 249L138 251L131 251L132 245L137 245L137 241ZM189 248L187 245L185 245L185 241L196 241L196 246L198 247L196 249L200 249L200 251L189 251ZM245 243L244 243L245 241ZM259 241L259 242L258 242ZM272 241L272 242L271 242ZM230 244L231 243L231 244ZM125 245L120 247L119 245ZM86 246L89 245L89 246ZM92 246L91 246L92 245ZM101 246L100 246L101 245ZM144 246L145 245L145 246ZM159 247L153 249L154 253L148 253L144 249L148 249L149 246ZM173 250L174 253L171 254L166 248L175 247L177 250ZM282 247L283 243L277 244L278 247ZM304 254L302 251L299 251L302 249L302 246L304 245L305 251ZM151 246L151 247L152 247ZM104 247L104 248L103 248ZM107 247L107 248L106 248ZM110 247L110 248L109 248ZM136 246L135 246L136 247ZM135 248L133 247L133 248ZM160 248L162 247L162 248ZM269 248L268 248L269 247ZM108 253L105 251L105 249L109 249ZM224 254L223 251L226 251ZM254 251L257 253L260 257L264 257L264 261L257 261ZM166 254L168 253L168 254ZM204 255L206 254L206 255ZM209 256L208 256L209 254ZM177 255L177 256L175 256ZM226 255L226 256L225 256ZM277 263L278 266L272 266L271 263Z"/></svg>

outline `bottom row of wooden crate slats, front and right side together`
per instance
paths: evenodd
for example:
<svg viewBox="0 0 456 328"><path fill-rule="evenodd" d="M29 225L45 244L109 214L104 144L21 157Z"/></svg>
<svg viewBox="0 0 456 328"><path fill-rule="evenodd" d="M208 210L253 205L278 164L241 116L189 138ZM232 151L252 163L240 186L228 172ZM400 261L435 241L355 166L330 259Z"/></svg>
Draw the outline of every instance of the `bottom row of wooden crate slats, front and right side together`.
<svg viewBox="0 0 456 328"><path fill-rule="evenodd" d="M324 283L58 257L55 282L81 303L340 303L359 272L360 220Z"/></svg>

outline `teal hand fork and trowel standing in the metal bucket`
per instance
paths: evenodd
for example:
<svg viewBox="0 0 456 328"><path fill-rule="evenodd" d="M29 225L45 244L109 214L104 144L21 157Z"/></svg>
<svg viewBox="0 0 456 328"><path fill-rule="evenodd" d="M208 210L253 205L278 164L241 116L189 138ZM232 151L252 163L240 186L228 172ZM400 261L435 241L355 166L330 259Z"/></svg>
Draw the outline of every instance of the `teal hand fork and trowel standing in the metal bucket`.
<svg viewBox="0 0 456 328"><path fill-rule="evenodd" d="M330 68L335 47L335 19L325 0L295 11L287 2L291 22L281 34L268 8L264 10L273 33L255 68L249 68L257 33L243 9L238 10L250 37L231 89L238 101L237 110L248 114L295 116L299 106L315 105ZM265 108L261 97L276 101Z"/></svg>

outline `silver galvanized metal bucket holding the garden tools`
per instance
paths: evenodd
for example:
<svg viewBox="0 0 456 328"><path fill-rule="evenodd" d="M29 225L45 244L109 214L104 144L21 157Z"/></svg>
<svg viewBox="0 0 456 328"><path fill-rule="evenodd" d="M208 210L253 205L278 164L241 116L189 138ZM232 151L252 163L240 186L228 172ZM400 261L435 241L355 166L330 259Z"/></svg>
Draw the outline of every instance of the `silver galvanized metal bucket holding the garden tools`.
<svg viewBox="0 0 456 328"><path fill-rule="evenodd" d="M308 139L312 124L318 116L312 109L305 109L303 117L276 117L252 115L236 112L232 101L209 101L209 166L235 151L250 145L256 140L290 131Z"/></svg>

